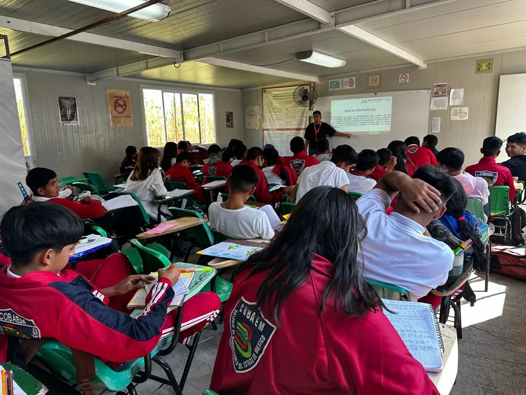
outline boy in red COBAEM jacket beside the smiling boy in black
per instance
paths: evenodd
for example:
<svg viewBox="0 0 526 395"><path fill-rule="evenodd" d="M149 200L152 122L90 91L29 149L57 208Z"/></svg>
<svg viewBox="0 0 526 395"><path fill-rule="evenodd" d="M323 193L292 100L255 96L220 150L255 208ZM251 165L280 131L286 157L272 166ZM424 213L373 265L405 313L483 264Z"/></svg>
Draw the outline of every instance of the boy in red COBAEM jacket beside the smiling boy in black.
<svg viewBox="0 0 526 395"><path fill-rule="evenodd" d="M509 186L510 201L515 199L515 185L510 169L495 162L502 147L502 140L497 136L486 137L482 142L480 153L484 155L479 163L466 167L466 173L474 177L482 177L488 186Z"/></svg>

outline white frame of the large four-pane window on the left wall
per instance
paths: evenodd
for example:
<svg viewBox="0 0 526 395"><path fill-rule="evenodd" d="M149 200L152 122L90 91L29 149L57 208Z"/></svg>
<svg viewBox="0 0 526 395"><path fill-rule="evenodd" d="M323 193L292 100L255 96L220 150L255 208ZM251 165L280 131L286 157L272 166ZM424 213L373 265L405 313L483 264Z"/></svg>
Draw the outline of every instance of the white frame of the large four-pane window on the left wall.
<svg viewBox="0 0 526 395"><path fill-rule="evenodd" d="M197 119L199 124L199 142L190 141L191 144L203 144L203 145L211 145L216 143L217 141L217 123L216 123L216 95L214 91L207 91L207 90L193 90L188 89L187 87L163 87L163 86L157 86L157 85L140 85L140 101L141 101L141 111L143 112L143 126L144 126L144 134L146 137L146 144L149 145L148 141L148 130L146 127L146 112L144 108L144 90L156 90L161 92L161 98L163 98L163 118L164 118L164 128L165 128L165 139L168 142L168 131L166 130L166 113L165 113L165 105L164 105L164 93L174 93L179 94L180 103L181 103L181 125L183 126L183 140L186 140L186 130L185 130L185 116L184 116L184 105L183 105L183 94L190 94L190 95L196 95L197 96ZM211 95L212 96L212 106L214 110L214 141L211 143L203 143L203 134L201 132L201 114L199 110L199 95ZM177 143L177 142L176 142Z"/></svg>

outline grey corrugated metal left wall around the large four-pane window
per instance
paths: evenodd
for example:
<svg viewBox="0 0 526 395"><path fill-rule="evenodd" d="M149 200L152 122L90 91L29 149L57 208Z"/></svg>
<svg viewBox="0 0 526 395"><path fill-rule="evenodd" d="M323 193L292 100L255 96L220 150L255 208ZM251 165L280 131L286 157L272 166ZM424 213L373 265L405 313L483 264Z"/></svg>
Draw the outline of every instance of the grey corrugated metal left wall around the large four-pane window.
<svg viewBox="0 0 526 395"><path fill-rule="evenodd" d="M97 171L108 181L118 172L127 145L146 145L140 86L176 89L176 85L151 81L109 80L87 85L82 75L17 70L25 74L33 124L33 154L37 166L54 169L58 177ZM112 127L108 112L108 88L131 92L133 126ZM244 122L241 92L214 88L181 87L187 91L213 92L215 98L216 140L225 146L231 138L242 139ZM75 96L78 125L59 122L58 96ZM225 112L234 112L234 129L226 129Z"/></svg>

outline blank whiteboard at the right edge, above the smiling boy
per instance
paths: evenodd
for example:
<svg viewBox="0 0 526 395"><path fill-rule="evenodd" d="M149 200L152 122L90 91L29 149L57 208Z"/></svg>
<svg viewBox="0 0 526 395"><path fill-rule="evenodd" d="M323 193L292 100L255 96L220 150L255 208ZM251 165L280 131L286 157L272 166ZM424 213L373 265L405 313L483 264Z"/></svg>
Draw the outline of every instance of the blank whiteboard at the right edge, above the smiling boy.
<svg viewBox="0 0 526 395"><path fill-rule="evenodd" d="M505 142L514 133L526 132L524 114L526 114L526 74L501 75L495 136ZM507 160L508 155L504 152L503 145L497 161Z"/></svg>

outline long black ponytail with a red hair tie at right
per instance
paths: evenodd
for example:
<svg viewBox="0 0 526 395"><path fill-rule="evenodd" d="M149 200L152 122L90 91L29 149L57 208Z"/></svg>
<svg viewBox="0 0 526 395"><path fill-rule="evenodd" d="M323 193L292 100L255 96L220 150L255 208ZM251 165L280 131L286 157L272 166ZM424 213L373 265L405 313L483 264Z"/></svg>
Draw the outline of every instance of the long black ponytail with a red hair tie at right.
<svg viewBox="0 0 526 395"><path fill-rule="evenodd" d="M455 180L454 184L454 193L446 203L446 212L444 214L450 215L457 219L458 230L462 236L462 241L468 239L473 241L473 269L485 270L486 258L484 256L484 246L480 241L479 234L468 221L458 221L459 218L463 218L464 216L464 210L466 210L468 205L468 196L466 195L466 191L464 191L464 187L460 182Z"/></svg>

